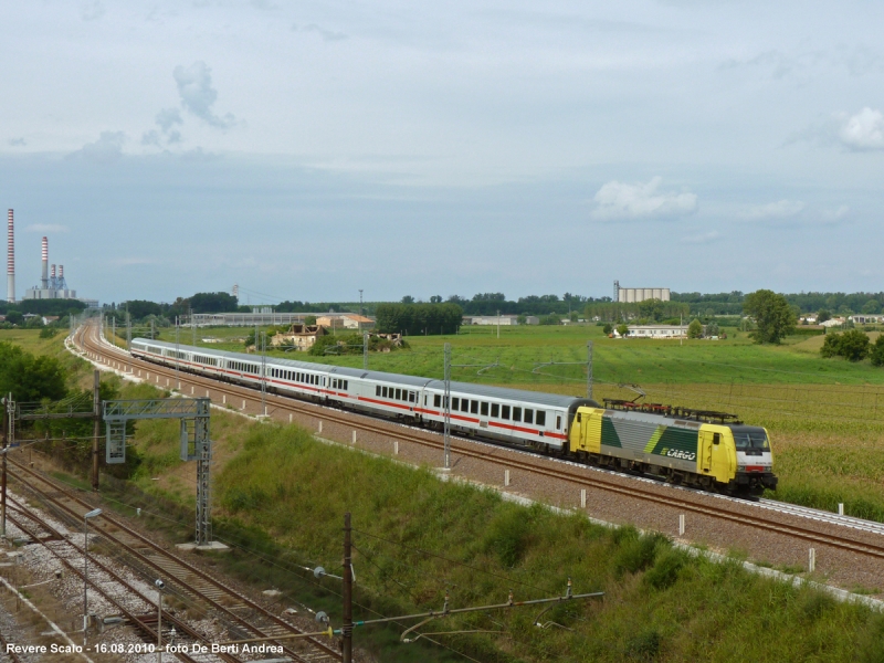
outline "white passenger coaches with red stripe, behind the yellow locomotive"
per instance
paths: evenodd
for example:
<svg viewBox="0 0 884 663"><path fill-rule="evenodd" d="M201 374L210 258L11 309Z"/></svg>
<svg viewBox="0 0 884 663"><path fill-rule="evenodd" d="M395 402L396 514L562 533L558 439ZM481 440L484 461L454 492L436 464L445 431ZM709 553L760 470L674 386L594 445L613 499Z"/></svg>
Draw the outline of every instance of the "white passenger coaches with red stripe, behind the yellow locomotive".
<svg viewBox="0 0 884 663"><path fill-rule="evenodd" d="M442 380L277 357L262 364L254 355L144 338L131 341L131 354L238 385L261 388L263 380L274 393L418 425L441 429L444 421ZM511 444L560 450L579 406L599 407L569 396L451 382L452 430Z"/></svg>

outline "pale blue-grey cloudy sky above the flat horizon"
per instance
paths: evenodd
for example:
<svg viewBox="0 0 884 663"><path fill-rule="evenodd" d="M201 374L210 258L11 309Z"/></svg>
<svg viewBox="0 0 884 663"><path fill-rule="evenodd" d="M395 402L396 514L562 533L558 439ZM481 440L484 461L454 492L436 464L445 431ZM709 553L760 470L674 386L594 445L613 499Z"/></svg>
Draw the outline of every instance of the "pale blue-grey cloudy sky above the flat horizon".
<svg viewBox="0 0 884 663"><path fill-rule="evenodd" d="M0 7L0 207L102 302L884 290L884 3Z"/></svg>

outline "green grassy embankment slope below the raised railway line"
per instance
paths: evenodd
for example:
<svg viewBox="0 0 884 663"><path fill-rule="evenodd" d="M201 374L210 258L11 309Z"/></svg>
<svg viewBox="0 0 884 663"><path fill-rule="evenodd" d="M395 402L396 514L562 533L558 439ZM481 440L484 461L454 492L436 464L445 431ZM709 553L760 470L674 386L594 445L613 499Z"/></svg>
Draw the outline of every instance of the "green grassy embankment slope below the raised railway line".
<svg viewBox="0 0 884 663"><path fill-rule="evenodd" d="M540 609L478 613L424 632L490 630L495 635L434 636L483 662L495 661L843 661L878 660L884 618L809 589L674 549L663 537L608 529L580 515L504 502L496 493L440 482L430 472L354 453L295 427L240 420L241 445L215 477L215 532L257 550L219 564L303 596L337 618L335 581L306 586L297 566L336 572L341 516L352 513L357 619L441 607L604 591L534 620ZM165 445L164 445L165 444ZM146 455L175 450L173 435ZM141 442L138 442L139 449ZM148 486L149 487L149 486ZM382 661L457 660L446 650L394 642L394 631L357 630ZM562 628L565 627L565 628ZM747 638L746 633L764 633Z"/></svg>

